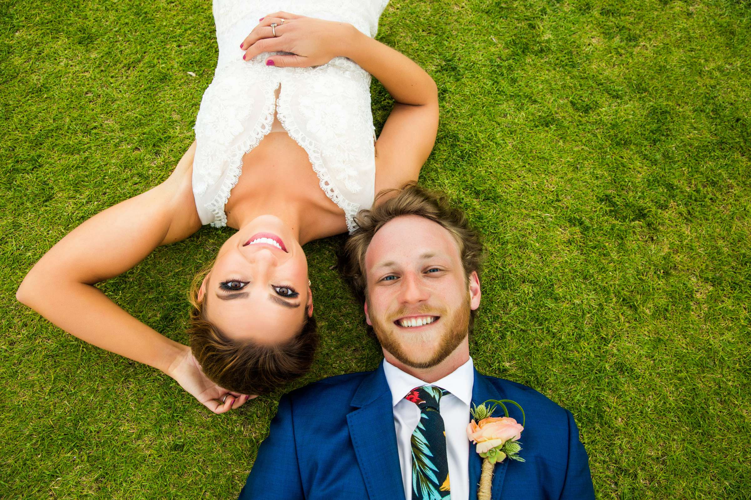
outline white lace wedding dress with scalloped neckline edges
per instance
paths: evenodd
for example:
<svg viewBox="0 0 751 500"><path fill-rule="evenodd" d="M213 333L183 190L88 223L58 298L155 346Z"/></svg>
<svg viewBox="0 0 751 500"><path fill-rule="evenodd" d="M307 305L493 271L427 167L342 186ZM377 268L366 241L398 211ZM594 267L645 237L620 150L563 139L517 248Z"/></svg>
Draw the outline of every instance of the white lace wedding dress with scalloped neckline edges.
<svg viewBox="0 0 751 500"><path fill-rule="evenodd" d="M354 215L369 208L375 195L369 73L343 57L318 67L267 67L268 54L243 61L240 43L259 18L279 10L348 22L375 37L387 3L213 1L219 61L196 117L193 163L193 193L202 223L227 224L225 204L242 172L243 154L271 131L276 109L289 136L307 151L321 189L342 208L348 229L356 228Z"/></svg>

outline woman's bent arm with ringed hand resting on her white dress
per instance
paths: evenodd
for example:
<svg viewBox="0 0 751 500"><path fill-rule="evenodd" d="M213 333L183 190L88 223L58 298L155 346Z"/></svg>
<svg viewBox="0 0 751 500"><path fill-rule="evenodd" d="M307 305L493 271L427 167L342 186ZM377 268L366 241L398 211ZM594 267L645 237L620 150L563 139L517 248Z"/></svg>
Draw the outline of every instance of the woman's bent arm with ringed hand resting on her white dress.
<svg viewBox="0 0 751 500"><path fill-rule="evenodd" d="M272 22L278 25L276 37ZM418 64L353 25L288 12L264 16L241 47L246 61L263 52L293 52L267 55L266 64L275 67L326 64L340 55L379 79L396 102L375 142L375 192L418 180L436 142L439 114L436 82Z"/></svg>

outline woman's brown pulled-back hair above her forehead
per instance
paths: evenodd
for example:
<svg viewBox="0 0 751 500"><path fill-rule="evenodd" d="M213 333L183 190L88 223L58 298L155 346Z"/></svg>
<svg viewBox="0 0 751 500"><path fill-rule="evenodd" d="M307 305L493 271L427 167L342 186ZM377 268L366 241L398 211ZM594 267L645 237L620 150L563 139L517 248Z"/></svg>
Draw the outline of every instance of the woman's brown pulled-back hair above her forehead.
<svg viewBox="0 0 751 500"><path fill-rule="evenodd" d="M190 347L204 375L228 391L260 395L308 373L318 347L318 331L306 308L302 308L303 328L286 342L267 346L234 340L207 320L205 304L198 300L198 289L212 267L213 262L198 273L189 295Z"/></svg>

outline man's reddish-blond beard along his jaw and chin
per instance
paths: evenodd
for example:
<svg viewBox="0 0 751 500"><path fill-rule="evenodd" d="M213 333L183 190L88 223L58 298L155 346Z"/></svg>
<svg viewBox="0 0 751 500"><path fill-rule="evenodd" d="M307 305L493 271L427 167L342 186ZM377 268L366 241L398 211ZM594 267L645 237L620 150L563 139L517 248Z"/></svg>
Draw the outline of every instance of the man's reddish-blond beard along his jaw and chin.
<svg viewBox="0 0 751 500"><path fill-rule="evenodd" d="M368 309L372 310L368 304ZM418 311L419 313L419 311ZM469 295L449 316L442 315L429 331L412 333L393 322L370 316L373 331L381 346L408 367L424 369L441 364L469 334ZM432 355L430 354L432 353ZM427 358L425 354L428 354Z"/></svg>

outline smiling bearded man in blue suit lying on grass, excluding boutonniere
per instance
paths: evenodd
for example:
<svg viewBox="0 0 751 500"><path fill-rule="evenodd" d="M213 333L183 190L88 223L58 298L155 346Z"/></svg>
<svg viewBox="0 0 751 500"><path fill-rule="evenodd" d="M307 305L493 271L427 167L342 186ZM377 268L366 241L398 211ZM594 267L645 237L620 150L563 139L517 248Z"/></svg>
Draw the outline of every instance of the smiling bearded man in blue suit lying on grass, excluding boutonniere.
<svg viewBox="0 0 751 500"><path fill-rule="evenodd" d="M526 462L496 463L493 499L593 499L572 414L473 367L482 247L463 212L411 186L358 224L342 268L385 359L283 396L240 499L475 500L482 459L466 427L487 400L526 413Z"/></svg>

